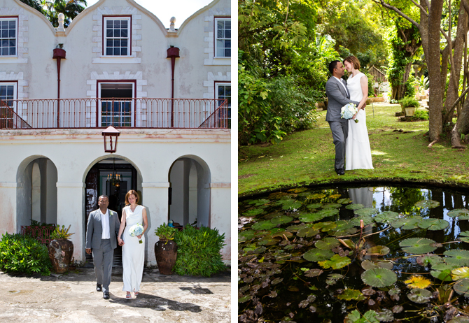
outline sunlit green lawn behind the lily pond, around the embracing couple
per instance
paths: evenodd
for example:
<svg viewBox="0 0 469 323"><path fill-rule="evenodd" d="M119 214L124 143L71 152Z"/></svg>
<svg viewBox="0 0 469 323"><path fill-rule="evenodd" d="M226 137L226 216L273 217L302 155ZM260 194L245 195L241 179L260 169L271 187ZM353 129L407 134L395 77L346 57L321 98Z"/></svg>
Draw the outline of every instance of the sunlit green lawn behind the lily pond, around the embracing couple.
<svg viewBox="0 0 469 323"><path fill-rule="evenodd" d="M400 122L398 104L367 106L367 129L373 170L334 171L335 148L325 111L319 112L315 129L297 131L278 145L239 148L239 196L282 187L330 182L399 180L469 187L466 150L455 150L449 135L428 148L428 120Z"/></svg>

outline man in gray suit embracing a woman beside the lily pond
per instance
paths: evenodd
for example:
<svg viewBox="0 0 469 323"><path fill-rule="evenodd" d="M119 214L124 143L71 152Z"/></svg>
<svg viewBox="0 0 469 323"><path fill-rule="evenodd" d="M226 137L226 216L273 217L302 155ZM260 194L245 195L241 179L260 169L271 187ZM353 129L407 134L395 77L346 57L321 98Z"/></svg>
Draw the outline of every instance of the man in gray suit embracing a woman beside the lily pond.
<svg viewBox="0 0 469 323"><path fill-rule="evenodd" d="M344 76L344 65L339 61L332 61L329 64L329 71L332 76L325 83L325 95L328 96L328 112L325 115L325 121L329 122L332 138L335 145L335 172L337 175L344 175L345 165L345 143L349 134L349 120L340 117L340 109L351 101L349 90L346 88Z"/></svg>

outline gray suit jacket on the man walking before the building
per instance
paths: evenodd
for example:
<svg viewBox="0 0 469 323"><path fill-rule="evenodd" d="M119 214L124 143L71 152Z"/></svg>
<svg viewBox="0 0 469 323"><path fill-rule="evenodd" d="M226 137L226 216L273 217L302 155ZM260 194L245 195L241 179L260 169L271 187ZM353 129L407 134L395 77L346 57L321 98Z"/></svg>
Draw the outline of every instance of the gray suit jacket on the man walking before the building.
<svg viewBox="0 0 469 323"><path fill-rule="evenodd" d="M109 210L109 209L108 209ZM111 247L116 249L117 247L117 236L119 234L120 221L118 219L118 213L116 211L109 210L109 236L111 241ZM99 249L101 247L101 237L103 233L103 227L101 223L101 213L99 209L94 210L88 217L88 223L86 226L86 249L94 248Z"/></svg>

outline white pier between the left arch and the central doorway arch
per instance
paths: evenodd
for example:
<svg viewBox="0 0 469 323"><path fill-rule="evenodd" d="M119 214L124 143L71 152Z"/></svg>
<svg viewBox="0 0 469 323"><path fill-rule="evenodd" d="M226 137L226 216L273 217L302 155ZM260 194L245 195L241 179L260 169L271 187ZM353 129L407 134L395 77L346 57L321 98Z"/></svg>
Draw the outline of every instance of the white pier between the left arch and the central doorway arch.
<svg viewBox="0 0 469 323"><path fill-rule="evenodd" d="M71 225L73 257L85 261L85 183L57 182L57 225Z"/></svg>

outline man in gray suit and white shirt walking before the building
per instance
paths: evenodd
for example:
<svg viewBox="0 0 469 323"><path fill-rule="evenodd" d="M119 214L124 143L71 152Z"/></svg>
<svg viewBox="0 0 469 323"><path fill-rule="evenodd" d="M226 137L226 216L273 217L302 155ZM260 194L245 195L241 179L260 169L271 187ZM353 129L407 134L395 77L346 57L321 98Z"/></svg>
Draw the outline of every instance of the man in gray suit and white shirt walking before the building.
<svg viewBox="0 0 469 323"><path fill-rule="evenodd" d="M85 248L87 254L93 254L96 290L103 292L104 299L109 299L113 255L117 247L120 222L118 213L108 210L108 196L99 196L98 205L99 209L92 211L88 217Z"/></svg>

